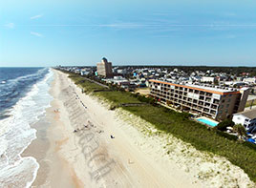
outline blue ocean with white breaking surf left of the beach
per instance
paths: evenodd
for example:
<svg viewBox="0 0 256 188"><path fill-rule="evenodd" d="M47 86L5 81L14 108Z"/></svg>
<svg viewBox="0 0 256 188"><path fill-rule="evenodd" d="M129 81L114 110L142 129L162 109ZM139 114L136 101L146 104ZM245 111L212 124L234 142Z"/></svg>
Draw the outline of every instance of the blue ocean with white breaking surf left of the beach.
<svg viewBox="0 0 256 188"><path fill-rule="evenodd" d="M36 178L36 159L20 155L50 107L52 80L48 68L0 68L0 187L30 187Z"/></svg>

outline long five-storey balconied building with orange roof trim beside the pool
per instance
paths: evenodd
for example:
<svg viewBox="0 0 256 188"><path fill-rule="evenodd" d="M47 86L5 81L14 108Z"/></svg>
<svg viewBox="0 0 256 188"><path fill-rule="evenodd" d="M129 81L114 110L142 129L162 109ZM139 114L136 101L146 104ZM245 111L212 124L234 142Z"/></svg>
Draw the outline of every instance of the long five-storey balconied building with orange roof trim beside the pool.
<svg viewBox="0 0 256 188"><path fill-rule="evenodd" d="M206 115L216 120L242 112L249 90L205 84L149 80L150 94L161 103L182 111Z"/></svg>

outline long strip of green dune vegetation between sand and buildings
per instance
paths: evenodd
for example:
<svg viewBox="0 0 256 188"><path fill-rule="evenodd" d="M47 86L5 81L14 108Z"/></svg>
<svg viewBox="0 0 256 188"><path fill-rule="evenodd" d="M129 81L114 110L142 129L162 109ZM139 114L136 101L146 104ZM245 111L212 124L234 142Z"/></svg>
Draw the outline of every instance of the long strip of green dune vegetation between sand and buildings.
<svg viewBox="0 0 256 188"><path fill-rule="evenodd" d="M236 136L229 136L217 129L207 128L196 121L190 120L189 114L178 113L157 105L152 98L120 92L117 91L117 88L110 91L96 83L86 81L80 75L71 74L70 77L85 91L103 97L116 105L134 102L151 103L152 105L147 106L121 108L152 123L157 129L191 143L198 150L226 157L230 162L241 167L249 178L256 182L256 147L251 143L239 142ZM95 92L96 90L103 91ZM224 127L227 124L224 124Z"/></svg>

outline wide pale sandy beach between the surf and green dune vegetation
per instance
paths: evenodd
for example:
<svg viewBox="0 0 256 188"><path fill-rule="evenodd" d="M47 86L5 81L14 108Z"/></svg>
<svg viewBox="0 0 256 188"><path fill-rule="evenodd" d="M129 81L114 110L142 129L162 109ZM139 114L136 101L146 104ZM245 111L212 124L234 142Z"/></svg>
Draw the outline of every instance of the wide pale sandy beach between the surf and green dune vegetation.
<svg viewBox="0 0 256 188"><path fill-rule="evenodd" d="M40 165L32 187L254 186L224 158L172 136L149 136L158 131L138 117L108 110L82 94L67 74L53 72L51 108L44 122L33 125L37 139L23 154Z"/></svg>

